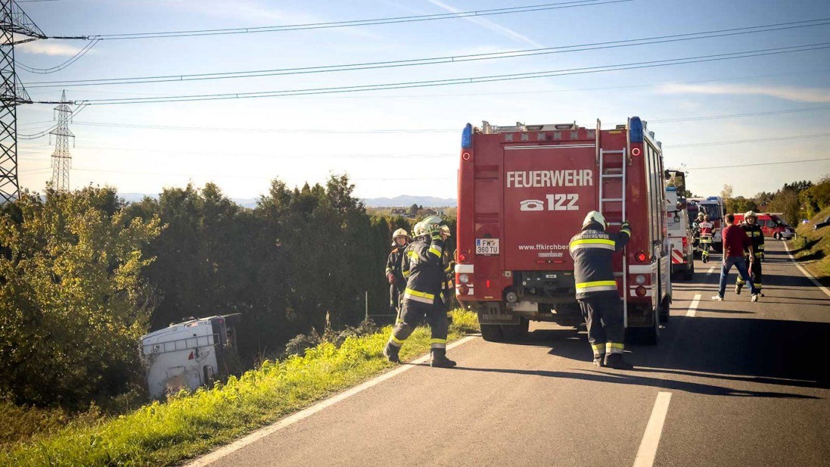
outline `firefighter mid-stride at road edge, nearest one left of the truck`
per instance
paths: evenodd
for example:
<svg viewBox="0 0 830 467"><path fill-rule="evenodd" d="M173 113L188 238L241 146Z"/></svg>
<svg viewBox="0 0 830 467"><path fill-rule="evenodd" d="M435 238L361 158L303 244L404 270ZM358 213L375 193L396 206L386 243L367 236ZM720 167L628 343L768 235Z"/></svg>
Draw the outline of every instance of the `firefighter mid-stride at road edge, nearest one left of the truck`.
<svg viewBox="0 0 830 467"><path fill-rule="evenodd" d="M442 301L442 284L445 282L443 264L444 241L449 229L441 218L430 216L416 225L416 238L403 251L401 272L407 278L403 292L401 321L395 324L392 335L383 349L388 361L399 362L398 351L403 342L415 330L415 323L424 315L432 331L430 351L432 366L452 368L456 362L447 358L447 309Z"/></svg>

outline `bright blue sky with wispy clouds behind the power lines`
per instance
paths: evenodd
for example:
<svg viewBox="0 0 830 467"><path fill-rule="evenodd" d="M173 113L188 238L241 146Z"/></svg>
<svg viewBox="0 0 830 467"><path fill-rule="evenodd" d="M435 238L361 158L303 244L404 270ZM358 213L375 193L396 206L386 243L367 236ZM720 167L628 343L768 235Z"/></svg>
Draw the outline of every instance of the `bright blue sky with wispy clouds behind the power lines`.
<svg viewBox="0 0 830 467"><path fill-rule="evenodd" d="M359 0L318 2L237 0L60 0L22 7L51 35L307 22L514 7L540 2L492 0ZM830 17L830 2L803 0L633 0L539 12L208 37L109 40L65 70L20 71L33 99L54 100L66 88L73 100L176 96L224 92L356 86L601 66L701 56L769 47L830 42L830 25L686 42L559 53L535 57L342 71L293 76L36 87L36 81L251 71L364 61L504 52L637 37ZM83 42L39 41L17 47L27 66L54 66ZM774 191L785 182L830 174L830 162L699 170L713 165L807 160L828 156L830 109L769 116L659 122L830 106L830 49L629 71L496 81L328 96L291 96L89 106L76 116L71 184L111 184L121 192L158 193L164 187L214 181L232 197L255 197L279 177L290 185L347 172L362 197L398 194L454 197L459 136L466 122L495 125L560 123L593 126L652 120L666 165L690 169L698 194ZM617 89L611 89L611 88ZM19 131L51 125L52 106L22 106ZM117 125L160 125L236 130L169 130ZM430 132L349 133L366 130ZM270 131L262 131L270 130ZM272 130L285 130L275 132ZM308 131L311 130L311 131ZM822 135L735 145L675 147L727 140ZM42 189L51 179L46 138L20 144L21 184ZM358 155L370 157L355 157ZM435 176L437 179L427 180Z"/></svg>

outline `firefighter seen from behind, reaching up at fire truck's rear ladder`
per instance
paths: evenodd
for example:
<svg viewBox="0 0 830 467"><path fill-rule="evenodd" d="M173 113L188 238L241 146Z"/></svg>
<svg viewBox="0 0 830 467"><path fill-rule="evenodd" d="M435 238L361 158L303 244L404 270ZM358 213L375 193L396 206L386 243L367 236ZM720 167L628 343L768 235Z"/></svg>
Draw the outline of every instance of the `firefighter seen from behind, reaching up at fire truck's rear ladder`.
<svg viewBox="0 0 830 467"><path fill-rule="evenodd" d="M605 218L591 211L582 232L571 238L569 252L574 258L576 299L588 327L588 342L593 349L593 364L627 369L623 361L623 303L614 280L611 258L628 243L631 228L627 222L618 234L605 231Z"/></svg>

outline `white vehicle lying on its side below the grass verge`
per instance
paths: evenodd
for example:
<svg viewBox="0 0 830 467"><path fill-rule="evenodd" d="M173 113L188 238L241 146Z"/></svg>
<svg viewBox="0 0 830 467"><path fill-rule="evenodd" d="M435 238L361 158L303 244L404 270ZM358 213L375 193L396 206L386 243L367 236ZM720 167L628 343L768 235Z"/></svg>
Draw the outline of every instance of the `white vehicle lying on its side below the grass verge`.
<svg viewBox="0 0 830 467"><path fill-rule="evenodd" d="M141 337L150 396L180 389L195 391L227 375L227 357L236 351L234 323L240 314L189 319Z"/></svg>

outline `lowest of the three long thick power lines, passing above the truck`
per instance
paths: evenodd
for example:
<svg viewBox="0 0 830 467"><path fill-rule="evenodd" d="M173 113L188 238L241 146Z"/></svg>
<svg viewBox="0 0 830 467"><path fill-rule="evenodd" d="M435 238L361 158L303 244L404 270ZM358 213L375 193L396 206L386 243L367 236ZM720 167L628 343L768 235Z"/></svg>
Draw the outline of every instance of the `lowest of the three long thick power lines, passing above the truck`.
<svg viewBox="0 0 830 467"><path fill-rule="evenodd" d="M550 76L569 76L582 75L589 73L598 73L603 71L623 71L635 70L641 68L652 68L657 66L670 65L684 65L690 63L701 63L706 61L723 61L733 60L736 58L748 57L763 57L769 55L778 55L792 52L809 52L814 50L821 50L830 48L830 42L818 42L813 44L803 44L800 46L790 47L773 47L768 49L759 49L744 52L729 52L712 54L696 57L682 57L671 58L665 60L653 61L637 61L629 63L621 63L616 65L604 66L586 66L580 68L569 68L564 70L554 71L532 71L526 73L511 73L505 75L491 75L491 76L474 76L467 78L452 78L444 80L427 80L427 81L405 81L398 83L374 84L374 85L359 85L359 86L334 86L334 87L320 87L320 88L306 88L286 91L257 91L257 92L240 92L240 93L223 93L223 94L197 94L197 95L183 95L183 96L165 96L165 97L132 97L120 99L90 99L84 100L90 105L114 105L114 104L139 104L139 103L159 103L159 102L181 102L181 101L216 101L226 99L247 99L257 97L281 97L281 96L308 96L320 94L337 94L344 92L359 92L359 91L382 91L389 89L409 89L416 87L432 87L432 86L452 86L458 84L493 82L493 81L515 81L530 78L542 78Z"/></svg>

